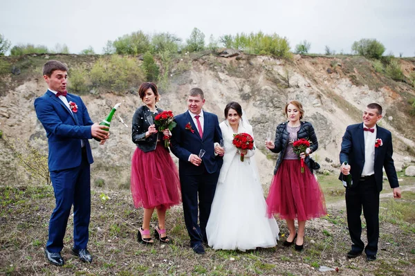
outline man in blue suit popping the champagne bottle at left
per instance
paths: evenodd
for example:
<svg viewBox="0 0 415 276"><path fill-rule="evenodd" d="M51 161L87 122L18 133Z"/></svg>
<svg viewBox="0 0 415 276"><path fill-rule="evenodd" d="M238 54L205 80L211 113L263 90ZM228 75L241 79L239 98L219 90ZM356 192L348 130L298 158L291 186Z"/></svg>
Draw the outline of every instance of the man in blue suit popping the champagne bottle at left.
<svg viewBox="0 0 415 276"><path fill-rule="evenodd" d="M86 249L91 214L90 164L93 163L88 139L104 144L109 133L93 123L77 95L66 92L68 68L57 60L43 66L48 91L35 100L37 118L48 137L48 167L55 192L56 206L50 217L45 255L51 264L63 266L60 255L64 234L73 205L73 255L91 263Z"/></svg>

